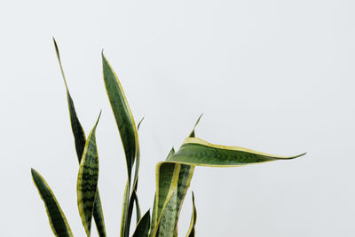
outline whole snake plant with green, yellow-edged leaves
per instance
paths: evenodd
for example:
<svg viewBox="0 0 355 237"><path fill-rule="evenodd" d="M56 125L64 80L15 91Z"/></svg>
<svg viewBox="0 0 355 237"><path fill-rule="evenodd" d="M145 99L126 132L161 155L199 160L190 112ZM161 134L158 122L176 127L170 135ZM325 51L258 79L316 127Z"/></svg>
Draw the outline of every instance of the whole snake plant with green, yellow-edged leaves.
<svg viewBox="0 0 355 237"><path fill-rule="evenodd" d="M77 206L83 227L87 236L91 235L91 219L94 218L99 236L106 236L104 215L99 197L99 154L96 145L95 130L99 118L89 136L85 136L83 127L75 113L73 99L67 88L66 77L59 57L58 45L53 38L59 67L67 89L67 104L69 108L71 128L75 138L75 150L79 162L76 180ZM175 151L170 150L165 161L158 162L155 169L155 196L152 212L147 210L142 216L138 204L138 170L140 162L138 126L133 119L129 104L122 90L118 77L114 74L106 57L102 53L103 78L108 99L114 112L115 122L121 135L122 145L127 164L127 183L124 189L122 203L121 237L140 236L177 236L177 220L181 210L195 166L236 167L259 162L289 160L295 156L278 156L264 154L239 146L219 146L195 137L194 129L185 138L183 145ZM133 171L133 173L132 173ZM67 218L60 209L59 202L52 193L50 186L36 171L31 170L32 178L43 199L49 217L52 232L56 236L73 236ZM130 222L133 208L136 209L137 225L130 234ZM195 235L196 208L193 195L193 214L185 236Z"/></svg>

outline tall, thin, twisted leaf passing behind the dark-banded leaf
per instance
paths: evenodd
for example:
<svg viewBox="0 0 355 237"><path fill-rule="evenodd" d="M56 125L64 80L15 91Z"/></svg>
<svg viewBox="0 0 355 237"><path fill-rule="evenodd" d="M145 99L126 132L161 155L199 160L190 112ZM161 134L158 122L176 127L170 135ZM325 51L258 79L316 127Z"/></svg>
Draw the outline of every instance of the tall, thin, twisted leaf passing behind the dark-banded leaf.
<svg viewBox="0 0 355 237"><path fill-rule="evenodd" d="M75 139L75 150L76 150L77 159L80 164L80 161L82 160L82 156L83 156L83 149L85 147L85 142L86 142L85 133L83 131L83 126L80 123L80 121L76 115L76 112L75 112L74 101L73 101L72 97L70 96L69 89L67 87L66 76L64 75L63 66L61 64L58 44L54 38L53 38L53 43L54 43L55 51L57 54L57 59L59 61L60 71L61 71L61 74L63 75L63 80L64 80L64 83L65 83L66 89L67 89L67 105L69 108L70 124L72 127L74 139ZM93 216L95 219L95 223L96 223L96 226L98 229L99 236L106 237L105 220L104 220L104 214L102 211L101 200L99 197L99 189L98 189L98 194L95 198Z"/></svg>

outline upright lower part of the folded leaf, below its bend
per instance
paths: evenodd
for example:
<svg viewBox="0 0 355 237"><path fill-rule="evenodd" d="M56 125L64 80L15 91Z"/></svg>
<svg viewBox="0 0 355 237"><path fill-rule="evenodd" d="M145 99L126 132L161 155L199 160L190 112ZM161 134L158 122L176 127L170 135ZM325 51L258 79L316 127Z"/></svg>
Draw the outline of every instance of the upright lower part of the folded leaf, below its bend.
<svg viewBox="0 0 355 237"><path fill-rule="evenodd" d="M162 212L166 208L170 197L174 194L177 188L178 174L180 171L180 164L170 162L159 162L155 168L156 178L156 194L155 198L155 213L152 225L154 231L150 233L151 236L158 235L158 229L162 220Z"/></svg>

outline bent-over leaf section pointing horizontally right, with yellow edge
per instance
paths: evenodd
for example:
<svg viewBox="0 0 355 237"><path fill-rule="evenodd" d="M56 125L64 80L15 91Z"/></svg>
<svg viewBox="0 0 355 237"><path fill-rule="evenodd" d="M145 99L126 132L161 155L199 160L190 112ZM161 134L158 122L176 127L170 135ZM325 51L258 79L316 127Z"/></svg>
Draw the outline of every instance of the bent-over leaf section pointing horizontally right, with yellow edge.
<svg viewBox="0 0 355 237"><path fill-rule="evenodd" d="M168 157L167 161L209 167L233 167L259 162L295 159L304 154L279 156L256 152L240 146L213 145L201 138L185 138L177 153Z"/></svg>

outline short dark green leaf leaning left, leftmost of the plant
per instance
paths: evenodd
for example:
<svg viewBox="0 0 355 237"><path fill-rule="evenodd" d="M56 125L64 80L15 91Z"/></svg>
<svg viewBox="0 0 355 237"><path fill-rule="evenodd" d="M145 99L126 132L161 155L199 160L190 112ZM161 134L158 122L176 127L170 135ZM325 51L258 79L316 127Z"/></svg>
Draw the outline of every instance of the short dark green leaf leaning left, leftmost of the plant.
<svg viewBox="0 0 355 237"><path fill-rule="evenodd" d="M55 236L73 237L72 230L67 223L67 218L60 209L56 197L51 192L51 187L48 186L47 182L45 182L44 178L36 170L31 169L31 174L38 193L44 202L52 232Z"/></svg>

